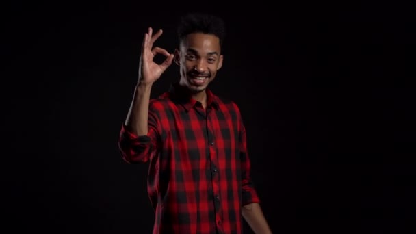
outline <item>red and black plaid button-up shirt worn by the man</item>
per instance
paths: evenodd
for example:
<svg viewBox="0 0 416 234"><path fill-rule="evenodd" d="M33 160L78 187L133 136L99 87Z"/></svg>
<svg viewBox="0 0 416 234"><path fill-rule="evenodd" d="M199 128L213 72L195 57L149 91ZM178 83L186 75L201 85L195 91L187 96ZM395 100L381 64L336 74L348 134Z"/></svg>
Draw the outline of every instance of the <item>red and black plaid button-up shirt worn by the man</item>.
<svg viewBox="0 0 416 234"><path fill-rule="evenodd" d="M131 164L150 161L153 233L242 233L242 206L259 203L250 179L239 109L207 90L207 108L179 86L152 99L148 134L122 125L120 151Z"/></svg>

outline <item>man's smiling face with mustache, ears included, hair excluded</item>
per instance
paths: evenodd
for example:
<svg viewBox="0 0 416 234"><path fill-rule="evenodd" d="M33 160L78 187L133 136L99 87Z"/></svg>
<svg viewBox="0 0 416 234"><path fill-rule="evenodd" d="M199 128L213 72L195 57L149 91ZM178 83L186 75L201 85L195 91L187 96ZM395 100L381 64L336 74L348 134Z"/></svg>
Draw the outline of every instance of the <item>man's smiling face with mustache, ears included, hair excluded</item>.
<svg viewBox="0 0 416 234"><path fill-rule="evenodd" d="M220 40L211 34L189 34L175 51L181 80L191 92L203 92L222 66Z"/></svg>

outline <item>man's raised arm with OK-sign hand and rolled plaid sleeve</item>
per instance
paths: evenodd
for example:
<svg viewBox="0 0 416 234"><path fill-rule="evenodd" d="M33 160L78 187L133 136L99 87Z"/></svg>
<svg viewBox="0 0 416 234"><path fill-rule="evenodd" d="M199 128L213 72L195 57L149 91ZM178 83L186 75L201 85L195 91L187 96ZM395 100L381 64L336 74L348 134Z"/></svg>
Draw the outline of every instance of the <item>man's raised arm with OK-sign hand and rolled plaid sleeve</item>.
<svg viewBox="0 0 416 234"><path fill-rule="evenodd" d="M156 117L151 116L151 133L149 130L149 103L152 85L162 73L172 64L173 54L159 47L153 48L153 43L162 31L152 34L152 28L144 34L138 83L135 86L133 101L129 108L127 118L120 132L118 145L122 158L131 164L140 164L148 161L155 150L155 136L157 135ZM165 55L166 60L161 64L153 61L157 54Z"/></svg>

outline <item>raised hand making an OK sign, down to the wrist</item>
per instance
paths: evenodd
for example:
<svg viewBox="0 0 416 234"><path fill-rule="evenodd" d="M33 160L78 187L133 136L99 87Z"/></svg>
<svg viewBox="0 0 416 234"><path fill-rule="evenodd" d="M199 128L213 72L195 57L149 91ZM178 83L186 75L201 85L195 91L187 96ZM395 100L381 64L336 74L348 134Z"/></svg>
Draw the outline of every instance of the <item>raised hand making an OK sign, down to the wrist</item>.
<svg viewBox="0 0 416 234"><path fill-rule="evenodd" d="M173 54L168 53L166 49L153 47L155 40L161 36L163 31L160 29L156 34L152 35L153 29L148 28L142 42L142 54L140 55L139 64L139 80L138 83L152 84L157 81L162 73L172 64ZM157 54L165 55L166 60L161 64L157 64L153 59Z"/></svg>

